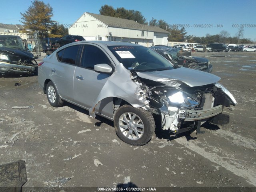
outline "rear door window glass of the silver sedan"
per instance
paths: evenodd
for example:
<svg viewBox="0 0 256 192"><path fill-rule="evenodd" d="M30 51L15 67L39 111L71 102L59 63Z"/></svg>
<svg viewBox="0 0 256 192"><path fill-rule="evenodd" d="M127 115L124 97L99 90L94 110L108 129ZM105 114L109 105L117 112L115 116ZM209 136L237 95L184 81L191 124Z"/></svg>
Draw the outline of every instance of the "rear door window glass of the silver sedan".
<svg viewBox="0 0 256 192"><path fill-rule="evenodd" d="M64 50L61 50L60 52L57 53L58 59L62 62L74 65L76 63L76 56L78 53L78 49L79 49L79 45L67 47Z"/></svg>

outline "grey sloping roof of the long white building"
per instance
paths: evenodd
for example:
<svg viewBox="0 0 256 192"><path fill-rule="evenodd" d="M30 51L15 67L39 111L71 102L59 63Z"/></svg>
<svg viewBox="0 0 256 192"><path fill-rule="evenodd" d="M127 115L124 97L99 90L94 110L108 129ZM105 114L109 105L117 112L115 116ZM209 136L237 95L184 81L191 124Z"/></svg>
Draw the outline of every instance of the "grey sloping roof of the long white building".
<svg viewBox="0 0 256 192"><path fill-rule="evenodd" d="M160 27L140 24L129 19L121 19L117 17L110 17L110 16L99 15L99 14L88 13L88 12L86 13L96 18L97 20L103 22L104 24L108 25L109 27L144 30L144 31L148 30L152 32L161 32L161 33L168 33L168 34L170 33Z"/></svg>

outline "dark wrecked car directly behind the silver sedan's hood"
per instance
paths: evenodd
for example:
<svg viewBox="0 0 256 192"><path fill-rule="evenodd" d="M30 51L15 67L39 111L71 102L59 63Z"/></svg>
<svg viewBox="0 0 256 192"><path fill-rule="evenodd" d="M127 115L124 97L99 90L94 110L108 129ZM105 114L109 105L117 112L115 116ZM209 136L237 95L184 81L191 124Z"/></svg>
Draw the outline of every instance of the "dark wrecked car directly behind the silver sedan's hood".
<svg viewBox="0 0 256 192"><path fill-rule="evenodd" d="M178 67L186 67L208 73L212 72L212 65L207 58L195 56L178 56L179 52L175 51L176 48L168 48L165 46L154 46L150 48Z"/></svg>

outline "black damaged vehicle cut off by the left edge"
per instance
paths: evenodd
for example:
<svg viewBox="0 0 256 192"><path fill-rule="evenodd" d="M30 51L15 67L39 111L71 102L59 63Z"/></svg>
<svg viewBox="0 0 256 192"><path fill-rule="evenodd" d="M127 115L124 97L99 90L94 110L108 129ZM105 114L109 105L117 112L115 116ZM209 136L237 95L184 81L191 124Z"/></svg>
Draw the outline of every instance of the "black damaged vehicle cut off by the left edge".
<svg viewBox="0 0 256 192"><path fill-rule="evenodd" d="M0 74L36 73L36 60L28 52L20 36L0 35Z"/></svg>

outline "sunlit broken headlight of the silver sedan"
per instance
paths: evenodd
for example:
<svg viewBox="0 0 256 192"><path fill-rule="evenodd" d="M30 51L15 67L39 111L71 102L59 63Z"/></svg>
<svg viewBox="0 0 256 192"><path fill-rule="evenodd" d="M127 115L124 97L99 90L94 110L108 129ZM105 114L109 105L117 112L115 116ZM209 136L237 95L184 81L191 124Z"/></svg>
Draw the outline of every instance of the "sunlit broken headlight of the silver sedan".
<svg viewBox="0 0 256 192"><path fill-rule="evenodd" d="M181 91L172 94L168 99L170 105L178 106L180 109L196 107L199 104L196 100Z"/></svg>

